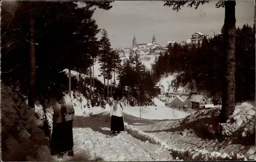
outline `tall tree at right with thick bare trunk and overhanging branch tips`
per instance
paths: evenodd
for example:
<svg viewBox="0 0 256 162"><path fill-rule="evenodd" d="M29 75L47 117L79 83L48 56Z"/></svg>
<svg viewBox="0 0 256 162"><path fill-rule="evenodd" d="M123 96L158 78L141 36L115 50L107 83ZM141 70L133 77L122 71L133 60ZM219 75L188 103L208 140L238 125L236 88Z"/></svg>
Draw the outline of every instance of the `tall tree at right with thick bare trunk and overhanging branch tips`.
<svg viewBox="0 0 256 162"><path fill-rule="evenodd" d="M164 1L164 6L173 7L177 12L185 4L188 7L197 9L200 5L208 3L208 1ZM223 56L223 65L225 74L222 80L222 109L220 114L220 122L225 122L234 110L235 106L235 30L236 30L236 1L218 1L216 7L225 7L224 20L224 40L225 54Z"/></svg>

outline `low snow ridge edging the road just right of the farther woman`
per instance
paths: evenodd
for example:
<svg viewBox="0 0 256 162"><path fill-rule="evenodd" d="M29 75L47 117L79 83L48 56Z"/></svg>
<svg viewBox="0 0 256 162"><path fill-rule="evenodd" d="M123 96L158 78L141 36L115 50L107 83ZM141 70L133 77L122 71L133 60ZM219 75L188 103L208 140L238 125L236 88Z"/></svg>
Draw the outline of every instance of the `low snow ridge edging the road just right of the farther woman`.
<svg viewBox="0 0 256 162"><path fill-rule="evenodd" d="M149 134L144 131L141 131L138 128L128 125L126 122L124 122L124 126L125 126L125 131L127 131L133 137L140 139L141 141L148 141L152 144L161 146L162 149L169 149L168 145L165 142L159 140L153 134Z"/></svg>

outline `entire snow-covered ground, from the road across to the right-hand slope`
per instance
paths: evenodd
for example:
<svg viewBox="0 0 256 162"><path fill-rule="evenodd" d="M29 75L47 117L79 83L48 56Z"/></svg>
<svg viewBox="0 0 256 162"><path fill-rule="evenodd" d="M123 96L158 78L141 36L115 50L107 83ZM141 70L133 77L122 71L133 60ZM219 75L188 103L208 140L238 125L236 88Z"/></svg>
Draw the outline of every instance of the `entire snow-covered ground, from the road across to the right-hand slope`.
<svg viewBox="0 0 256 162"><path fill-rule="evenodd" d="M242 142L233 141L232 137L227 135L224 141L210 138L216 133L215 128L218 126L216 119L219 118L220 108L187 115L165 107L158 99L154 100L157 110L155 106L148 106L144 116L142 114L143 119L139 118L138 107L125 107L126 132L110 138L110 106L106 106L106 109L96 106L89 109L87 106L82 106L81 109L77 99L72 98L76 105L76 120L73 128L75 156L65 156L62 160L155 161L255 158L255 146L243 145ZM86 102L83 100L84 105L87 105ZM52 116L52 110L49 109L47 112ZM245 125L248 127L248 120L254 119L255 122L253 116L255 116L254 106L248 103L236 106L232 116L234 123L222 125L226 130L223 133L237 133L242 126L243 130L239 133L245 132L242 135L247 138L253 128L245 129ZM51 121L51 118L49 120Z"/></svg>

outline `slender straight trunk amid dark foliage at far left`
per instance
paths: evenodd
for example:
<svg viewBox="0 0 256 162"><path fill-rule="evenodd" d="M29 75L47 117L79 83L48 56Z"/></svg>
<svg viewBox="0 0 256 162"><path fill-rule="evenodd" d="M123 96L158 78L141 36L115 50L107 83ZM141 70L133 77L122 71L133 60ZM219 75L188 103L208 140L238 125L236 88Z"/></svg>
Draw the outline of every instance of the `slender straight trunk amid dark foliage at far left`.
<svg viewBox="0 0 256 162"><path fill-rule="evenodd" d="M28 105L35 109L35 22L32 13L30 15L30 82Z"/></svg>

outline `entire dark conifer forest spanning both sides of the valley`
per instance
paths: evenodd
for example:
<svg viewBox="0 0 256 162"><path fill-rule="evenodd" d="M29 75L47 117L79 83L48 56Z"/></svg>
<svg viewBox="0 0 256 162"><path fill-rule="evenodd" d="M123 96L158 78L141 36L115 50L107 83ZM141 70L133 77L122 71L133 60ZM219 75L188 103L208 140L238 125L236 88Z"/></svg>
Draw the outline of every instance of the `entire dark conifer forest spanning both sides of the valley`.
<svg viewBox="0 0 256 162"><path fill-rule="evenodd" d="M28 98L31 107L51 85L69 87L65 69L80 73L78 79L72 77L71 89L91 99L92 105L104 106L117 90L131 105L152 104L155 85L163 75L172 73L179 73L174 87L189 83L191 88L196 87L220 102L221 77L225 75L223 34L204 39L202 44L170 44L149 71L137 53L131 53L130 59L121 63L111 48L107 31L98 28L93 18L95 7L110 10L112 1L81 3L82 8L77 8L76 2L2 3L2 82ZM102 37L98 39L100 32ZM237 28L236 36L236 100L249 100L254 98L255 87L255 25ZM107 83L92 77L96 59Z"/></svg>

